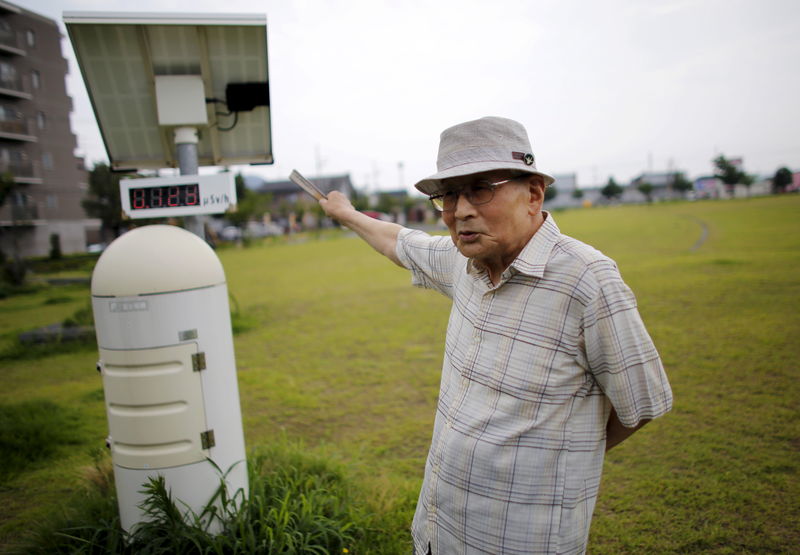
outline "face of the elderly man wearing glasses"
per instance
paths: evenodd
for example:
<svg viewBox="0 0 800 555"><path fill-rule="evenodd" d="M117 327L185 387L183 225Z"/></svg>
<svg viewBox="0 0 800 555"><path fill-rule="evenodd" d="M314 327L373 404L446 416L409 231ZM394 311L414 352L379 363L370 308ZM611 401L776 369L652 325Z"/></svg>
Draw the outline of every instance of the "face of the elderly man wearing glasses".
<svg viewBox="0 0 800 555"><path fill-rule="evenodd" d="M445 179L444 190L459 191L478 181L509 179L508 171L491 171ZM459 195L452 211L442 212L458 250L490 270L502 272L541 225L544 189L536 176L525 176L497 187L486 204L473 205Z"/></svg>

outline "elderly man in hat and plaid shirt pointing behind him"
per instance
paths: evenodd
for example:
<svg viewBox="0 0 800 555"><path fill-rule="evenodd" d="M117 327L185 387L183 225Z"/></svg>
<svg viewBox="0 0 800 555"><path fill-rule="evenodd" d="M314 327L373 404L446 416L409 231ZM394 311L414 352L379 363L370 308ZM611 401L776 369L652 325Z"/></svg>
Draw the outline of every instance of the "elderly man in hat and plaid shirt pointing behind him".
<svg viewBox="0 0 800 555"><path fill-rule="evenodd" d="M542 211L522 125L451 127L437 166L416 188L450 237L320 202L453 301L415 552L582 553L605 451L671 408L658 352L615 263Z"/></svg>

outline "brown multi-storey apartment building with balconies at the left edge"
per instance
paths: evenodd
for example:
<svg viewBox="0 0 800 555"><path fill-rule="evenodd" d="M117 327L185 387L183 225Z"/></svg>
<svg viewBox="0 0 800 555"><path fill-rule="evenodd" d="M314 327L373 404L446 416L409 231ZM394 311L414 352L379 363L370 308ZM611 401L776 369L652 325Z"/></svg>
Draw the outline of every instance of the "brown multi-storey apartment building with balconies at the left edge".
<svg viewBox="0 0 800 555"><path fill-rule="evenodd" d="M88 174L76 158L67 60L52 19L0 0L0 249L44 256L86 250L98 223L81 207ZM1 185L0 185L1 186Z"/></svg>

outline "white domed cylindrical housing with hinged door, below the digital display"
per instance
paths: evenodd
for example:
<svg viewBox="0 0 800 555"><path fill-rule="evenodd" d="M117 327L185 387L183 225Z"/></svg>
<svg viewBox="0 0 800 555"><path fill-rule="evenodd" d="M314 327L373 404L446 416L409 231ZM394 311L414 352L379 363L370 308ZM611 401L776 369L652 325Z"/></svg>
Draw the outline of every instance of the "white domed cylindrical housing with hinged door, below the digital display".
<svg viewBox="0 0 800 555"><path fill-rule="evenodd" d="M225 274L199 237L166 225L114 241L92 275L98 368L125 530L150 477L197 514L225 474L247 495L247 464ZM209 462L213 461L214 464Z"/></svg>

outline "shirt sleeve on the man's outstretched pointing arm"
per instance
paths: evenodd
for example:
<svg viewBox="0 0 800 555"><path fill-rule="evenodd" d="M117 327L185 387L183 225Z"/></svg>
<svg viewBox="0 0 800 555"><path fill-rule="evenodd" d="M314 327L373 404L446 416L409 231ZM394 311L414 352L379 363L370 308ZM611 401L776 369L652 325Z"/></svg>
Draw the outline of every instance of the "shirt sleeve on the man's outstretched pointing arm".
<svg viewBox="0 0 800 555"><path fill-rule="evenodd" d="M450 237L404 229L397 236L395 252L403 266L411 270L413 285L453 298L453 272L458 262L465 263L466 259Z"/></svg>

